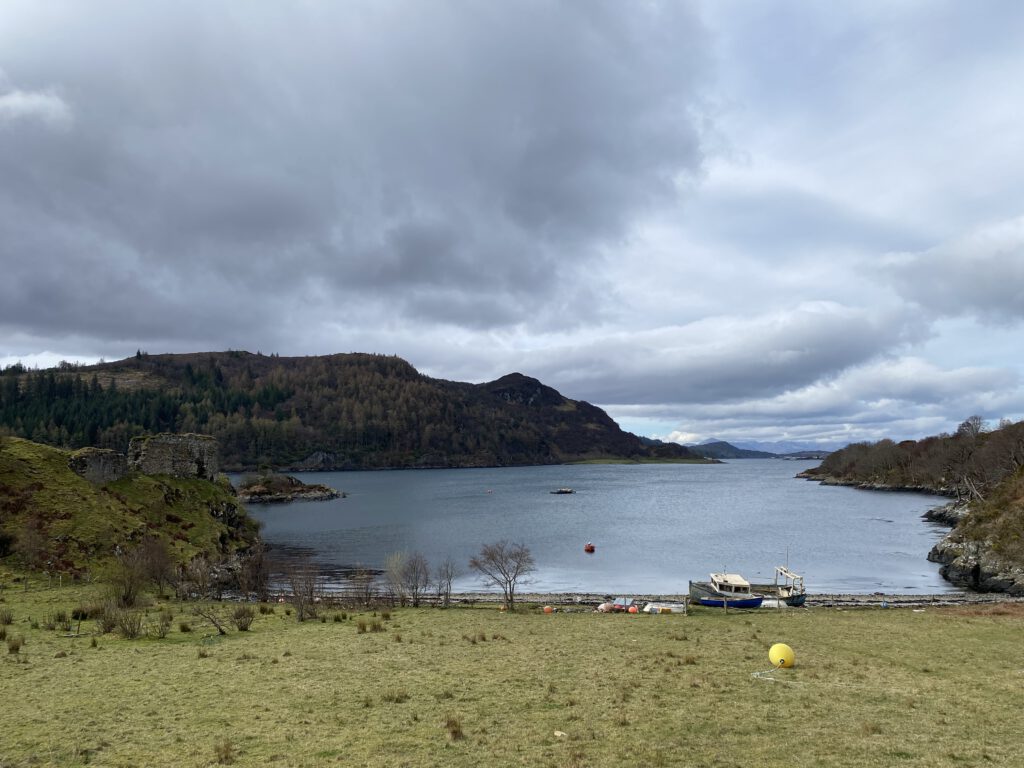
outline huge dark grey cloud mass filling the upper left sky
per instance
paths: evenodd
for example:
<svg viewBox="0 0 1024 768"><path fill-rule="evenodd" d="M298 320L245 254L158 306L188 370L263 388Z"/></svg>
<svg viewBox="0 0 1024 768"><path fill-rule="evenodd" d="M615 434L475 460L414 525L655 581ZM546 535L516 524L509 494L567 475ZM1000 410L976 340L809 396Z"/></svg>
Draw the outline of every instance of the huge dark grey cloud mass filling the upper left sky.
<svg viewBox="0 0 1024 768"><path fill-rule="evenodd" d="M81 236L5 239L23 285L46 279L40 260L88 260L87 242L112 273L164 274L138 292L165 330L176 312L230 323L233 302L189 295L197 279L252 302L315 281L328 313L371 292L416 322L483 328L554 322L556 287L578 284L585 318L601 247L702 161L707 52L688 5L236 10L71 4L44 20L25 5L0 31L11 81L59 88L76 116L59 135L0 134L0 223ZM28 42L43 24L45 48ZM89 289L110 313L139 311L116 285ZM9 325L41 322L7 306ZM46 324L111 333L81 302Z"/></svg>

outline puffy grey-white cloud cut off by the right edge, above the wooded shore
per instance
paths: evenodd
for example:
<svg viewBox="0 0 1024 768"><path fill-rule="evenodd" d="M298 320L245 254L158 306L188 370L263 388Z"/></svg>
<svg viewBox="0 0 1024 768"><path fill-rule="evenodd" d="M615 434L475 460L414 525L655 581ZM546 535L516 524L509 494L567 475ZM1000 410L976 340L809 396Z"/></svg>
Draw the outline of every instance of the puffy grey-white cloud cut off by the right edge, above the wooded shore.
<svg viewBox="0 0 1024 768"><path fill-rule="evenodd" d="M886 273L933 316L1024 319L1024 216L916 253L895 253Z"/></svg>

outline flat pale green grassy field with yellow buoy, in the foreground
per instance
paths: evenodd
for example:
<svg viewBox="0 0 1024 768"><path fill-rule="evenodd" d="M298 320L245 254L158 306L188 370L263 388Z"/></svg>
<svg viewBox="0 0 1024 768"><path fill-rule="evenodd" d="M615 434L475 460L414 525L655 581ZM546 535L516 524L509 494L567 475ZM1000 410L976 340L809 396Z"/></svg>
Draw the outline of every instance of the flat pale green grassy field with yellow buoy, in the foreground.
<svg viewBox="0 0 1024 768"><path fill-rule="evenodd" d="M222 637L194 606L154 601L147 622L174 613L163 639L97 635L89 620L77 637L47 629L95 589L8 581L0 593L3 768L1024 761L1019 605L328 608L302 624L274 605ZM770 670L775 642L795 669Z"/></svg>

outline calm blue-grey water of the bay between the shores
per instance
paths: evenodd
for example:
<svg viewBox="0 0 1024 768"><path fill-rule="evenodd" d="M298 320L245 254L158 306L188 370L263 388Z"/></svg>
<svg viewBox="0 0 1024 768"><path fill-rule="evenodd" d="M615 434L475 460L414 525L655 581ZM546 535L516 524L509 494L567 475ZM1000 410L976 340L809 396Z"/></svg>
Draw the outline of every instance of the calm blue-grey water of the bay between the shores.
<svg viewBox="0 0 1024 768"><path fill-rule="evenodd" d="M925 559L945 529L921 519L936 497L825 487L794 475L816 462L595 465L304 475L348 498L252 505L263 536L326 567L380 568L400 550L463 569L481 544L526 544L528 590L678 593L734 570L772 581L788 556L811 592L945 592ZM575 488L556 496L556 487ZM591 541L596 554L583 545ZM464 573L457 590L480 589Z"/></svg>

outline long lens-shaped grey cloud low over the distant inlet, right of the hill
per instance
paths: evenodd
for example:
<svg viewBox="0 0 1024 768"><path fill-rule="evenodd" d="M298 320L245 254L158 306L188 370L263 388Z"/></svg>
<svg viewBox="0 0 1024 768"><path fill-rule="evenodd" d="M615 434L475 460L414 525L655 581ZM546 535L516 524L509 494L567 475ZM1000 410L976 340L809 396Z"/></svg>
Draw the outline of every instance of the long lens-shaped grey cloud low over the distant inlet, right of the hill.
<svg viewBox="0 0 1024 768"><path fill-rule="evenodd" d="M728 402L837 376L923 333L909 314L822 302L601 339L540 368L594 402Z"/></svg>

